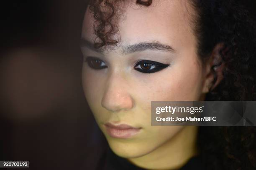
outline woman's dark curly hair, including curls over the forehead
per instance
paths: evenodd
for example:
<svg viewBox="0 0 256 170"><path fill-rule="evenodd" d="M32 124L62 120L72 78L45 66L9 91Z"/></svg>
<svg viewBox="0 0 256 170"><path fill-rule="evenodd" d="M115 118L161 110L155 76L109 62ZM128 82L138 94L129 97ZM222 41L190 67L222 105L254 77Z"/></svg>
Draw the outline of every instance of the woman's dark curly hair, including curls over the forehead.
<svg viewBox="0 0 256 170"><path fill-rule="evenodd" d="M118 39L117 20L124 0L91 0L90 11L95 18L95 47L113 46ZM152 0L136 0L147 7ZM211 88L205 100L256 100L256 22L239 0L191 0L196 11L193 18L197 38L197 54L205 61L215 45L224 43L220 50L222 61L211 67L214 82L215 67L225 63L223 80ZM105 8L104 8L104 7ZM103 10L105 9L105 10ZM205 126L199 128L198 147L207 170L255 170L255 126Z"/></svg>

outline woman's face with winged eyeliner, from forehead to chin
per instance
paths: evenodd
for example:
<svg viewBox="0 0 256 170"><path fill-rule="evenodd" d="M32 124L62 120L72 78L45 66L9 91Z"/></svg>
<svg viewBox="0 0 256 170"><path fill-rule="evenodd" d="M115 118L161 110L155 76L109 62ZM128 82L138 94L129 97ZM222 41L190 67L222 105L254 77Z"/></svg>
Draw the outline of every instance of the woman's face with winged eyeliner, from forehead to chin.
<svg viewBox="0 0 256 170"><path fill-rule="evenodd" d="M153 1L149 7L133 2L118 20L118 46L103 51L88 43L96 35L93 15L85 13L84 94L117 155L146 155L183 128L151 126L151 101L203 100L206 74L197 56L192 13L183 0Z"/></svg>

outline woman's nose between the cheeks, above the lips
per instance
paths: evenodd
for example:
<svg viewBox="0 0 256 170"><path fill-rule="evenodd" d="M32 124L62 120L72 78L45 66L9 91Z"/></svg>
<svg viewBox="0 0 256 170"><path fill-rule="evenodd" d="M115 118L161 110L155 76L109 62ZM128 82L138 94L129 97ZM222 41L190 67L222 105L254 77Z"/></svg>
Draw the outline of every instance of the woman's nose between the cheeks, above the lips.
<svg viewBox="0 0 256 170"><path fill-rule="evenodd" d="M109 77L101 101L102 107L113 112L130 110L133 107L133 99L127 84L120 75Z"/></svg>

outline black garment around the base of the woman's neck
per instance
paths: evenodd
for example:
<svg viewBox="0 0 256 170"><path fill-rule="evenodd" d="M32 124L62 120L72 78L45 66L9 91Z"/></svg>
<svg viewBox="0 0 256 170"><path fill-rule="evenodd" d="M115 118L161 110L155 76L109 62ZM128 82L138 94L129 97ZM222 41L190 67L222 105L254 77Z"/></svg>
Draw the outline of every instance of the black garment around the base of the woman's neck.
<svg viewBox="0 0 256 170"><path fill-rule="evenodd" d="M131 164L128 160L121 158L108 147L100 162L97 170L145 170ZM191 158L180 170L205 170L199 156Z"/></svg>

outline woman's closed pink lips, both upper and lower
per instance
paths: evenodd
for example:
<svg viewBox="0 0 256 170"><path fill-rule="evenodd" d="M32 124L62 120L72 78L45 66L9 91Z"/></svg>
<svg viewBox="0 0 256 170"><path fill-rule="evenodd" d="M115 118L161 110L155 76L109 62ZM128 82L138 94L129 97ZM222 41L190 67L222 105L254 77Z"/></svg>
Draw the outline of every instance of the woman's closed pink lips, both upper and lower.
<svg viewBox="0 0 256 170"><path fill-rule="evenodd" d="M141 128L135 128L127 124L113 125L111 123L105 124L108 135L112 138L128 139L137 135Z"/></svg>

